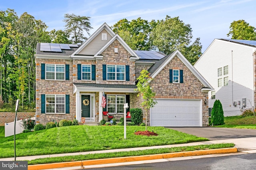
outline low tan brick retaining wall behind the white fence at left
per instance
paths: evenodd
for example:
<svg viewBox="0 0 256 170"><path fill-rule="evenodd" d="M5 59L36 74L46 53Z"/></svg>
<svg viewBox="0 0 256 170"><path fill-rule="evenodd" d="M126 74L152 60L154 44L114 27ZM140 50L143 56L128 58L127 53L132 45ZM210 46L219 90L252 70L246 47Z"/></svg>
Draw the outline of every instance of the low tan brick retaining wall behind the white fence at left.
<svg viewBox="0 0 256 170"><path fill-rule="evenodd" d="M34 117L35 114L35 112L17 112L17 120ZM15 112L0 112L0 126L4 126L4 123L10 123L14 119Z"/></svg>

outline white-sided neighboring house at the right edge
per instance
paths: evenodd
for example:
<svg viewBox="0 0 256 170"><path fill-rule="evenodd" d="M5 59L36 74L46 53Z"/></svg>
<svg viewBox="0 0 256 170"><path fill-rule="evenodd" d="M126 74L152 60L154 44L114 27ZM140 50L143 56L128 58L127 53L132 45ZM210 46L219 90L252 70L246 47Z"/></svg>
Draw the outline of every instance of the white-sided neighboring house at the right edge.
<svg viewBox="0 0 256 170"><path fill-rule="evenodd" d="M209 111L220 100L224 116L255 108L256 41L214 39L194 67L214 88Z"/></svg>

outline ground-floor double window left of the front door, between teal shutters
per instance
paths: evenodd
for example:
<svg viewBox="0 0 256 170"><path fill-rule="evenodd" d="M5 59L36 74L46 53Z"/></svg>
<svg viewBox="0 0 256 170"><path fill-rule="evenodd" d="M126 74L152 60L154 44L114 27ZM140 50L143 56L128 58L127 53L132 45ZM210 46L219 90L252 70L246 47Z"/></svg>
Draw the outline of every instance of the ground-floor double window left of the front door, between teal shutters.
<svg viewBox="0 0 256 170"><path fill-rule="evenodd" d="M65 95L46 94L46 113L65 113Z"/></svg>

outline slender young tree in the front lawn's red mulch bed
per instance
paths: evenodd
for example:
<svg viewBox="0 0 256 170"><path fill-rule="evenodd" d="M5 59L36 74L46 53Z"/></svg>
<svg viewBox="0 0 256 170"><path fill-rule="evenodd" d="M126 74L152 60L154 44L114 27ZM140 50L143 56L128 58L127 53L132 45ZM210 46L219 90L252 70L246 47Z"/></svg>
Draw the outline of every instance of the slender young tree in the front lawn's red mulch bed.
<svg viewBox="0 0 256 170"><path fill-rule="evenodd" d="M139 97L141 94L144 100L140 106L146 110L146 130L148 125L148 110L157 104L156 100L154 99L156 93L152 91L152 88L149 85L149 83L153 80L149 74L150 73L147 70L142 70L140 72L140 76L137 78L137 88L135 89L136 92L139 92L137 96Z"/></svg>

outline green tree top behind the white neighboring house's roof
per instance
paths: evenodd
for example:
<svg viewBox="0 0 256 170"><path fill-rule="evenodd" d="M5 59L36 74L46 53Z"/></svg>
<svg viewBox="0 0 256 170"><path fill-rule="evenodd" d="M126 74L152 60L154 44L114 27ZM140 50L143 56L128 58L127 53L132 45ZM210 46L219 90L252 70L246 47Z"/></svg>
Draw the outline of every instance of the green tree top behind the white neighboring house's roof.
<svg viewBox="0 0 256 170"><path fill-rule="evenodd" d="M256 29L244 20L233 21L227 34L231 39L256 40Z"/></svg>

